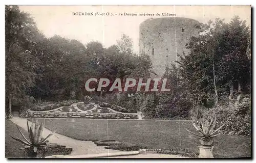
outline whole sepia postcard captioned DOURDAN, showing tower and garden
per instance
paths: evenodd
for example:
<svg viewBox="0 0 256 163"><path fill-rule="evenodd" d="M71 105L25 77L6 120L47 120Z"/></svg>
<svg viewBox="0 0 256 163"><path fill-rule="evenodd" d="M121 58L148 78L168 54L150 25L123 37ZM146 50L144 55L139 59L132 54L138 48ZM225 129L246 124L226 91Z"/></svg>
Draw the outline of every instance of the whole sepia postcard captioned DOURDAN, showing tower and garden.
<svg viewBox="0 0 256 163"><path fill-rule="evenodd" d="M251 158L251 6L5 6L6 158Z"/></svg>

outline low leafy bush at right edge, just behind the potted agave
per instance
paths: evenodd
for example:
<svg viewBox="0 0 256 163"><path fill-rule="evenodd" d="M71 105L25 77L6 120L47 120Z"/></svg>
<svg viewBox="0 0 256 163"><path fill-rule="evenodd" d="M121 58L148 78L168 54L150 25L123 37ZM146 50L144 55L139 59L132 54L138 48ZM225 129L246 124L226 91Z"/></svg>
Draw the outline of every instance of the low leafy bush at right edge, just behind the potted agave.
<svg viewBox="0 0 256 163"><path fill-rule="evenodd" d="M211 108L209 115L217 117L217 124L227 124L223 127L224 134L244 135L251 134L251 104L250 100L243 100L238 106L218 106Z"/></svg>

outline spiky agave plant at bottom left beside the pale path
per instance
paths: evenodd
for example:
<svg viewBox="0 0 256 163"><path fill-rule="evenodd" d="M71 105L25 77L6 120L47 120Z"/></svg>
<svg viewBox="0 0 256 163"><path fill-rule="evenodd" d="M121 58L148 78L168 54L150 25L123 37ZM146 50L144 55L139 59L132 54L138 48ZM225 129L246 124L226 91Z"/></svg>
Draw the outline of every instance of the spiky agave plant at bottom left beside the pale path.
<svg viewBox="0 0 256 163"><path fill-rule="evenodd" d="M28 123L27 120L27 127L28 127L28 134L29 134L29 140L24 136L22 131L20 131L18 125L16 125L20 134L22 137L25 139L21 140L17 137L10 137L23 145L25 145L25 148L20 148L17 150L25 150L25 154L27 154L27 157L37 157L41 158L45 156L45 153L47 151L47 148L51 146L56 146L56 144L49 144L47 140L54 135L55 131L50 133L45 139L42 138L42 131L44 130L45 127L45 122L44 123L39 123L37 119L32 119L31 126ZM26 155L25 155L26 156Z"/></svg>

